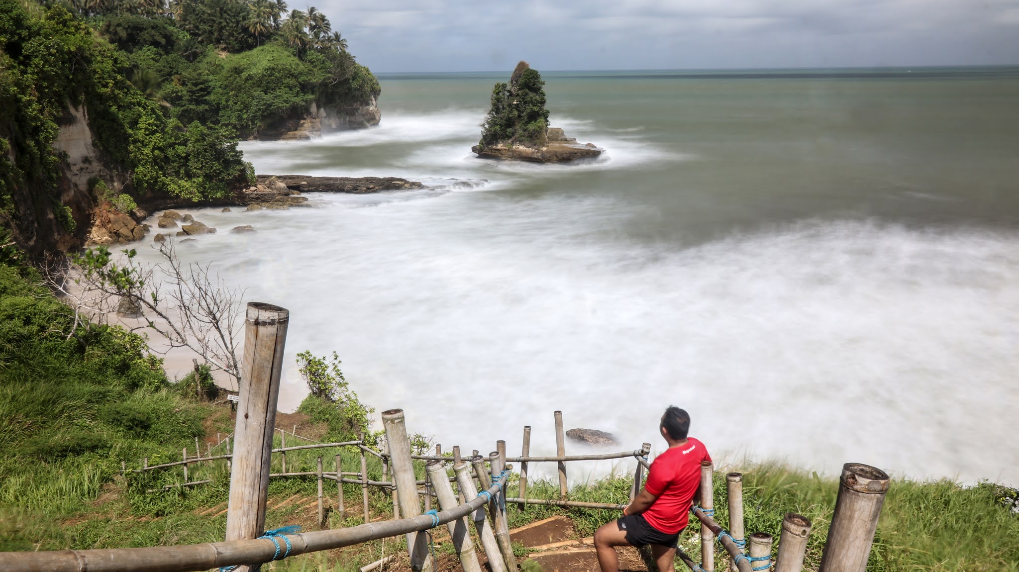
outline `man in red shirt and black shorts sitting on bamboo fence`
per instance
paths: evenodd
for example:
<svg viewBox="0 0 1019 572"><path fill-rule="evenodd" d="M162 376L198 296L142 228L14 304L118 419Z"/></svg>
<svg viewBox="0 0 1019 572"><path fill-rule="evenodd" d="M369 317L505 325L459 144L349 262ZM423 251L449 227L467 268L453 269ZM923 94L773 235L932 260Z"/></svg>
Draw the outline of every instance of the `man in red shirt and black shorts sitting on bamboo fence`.
<svg viewBox="0 0 1019 572"><path fill-rule="evenodd" d="M710 461L704 444L687 437L690 414L669 406L658 427L668 449L651 463L640 494L623 511L623 518L594 532L601 572L619 572L614 547L651 545L658 572L674 572L677 541L687 527L694 495L700 489L700 464Z"/></svg>

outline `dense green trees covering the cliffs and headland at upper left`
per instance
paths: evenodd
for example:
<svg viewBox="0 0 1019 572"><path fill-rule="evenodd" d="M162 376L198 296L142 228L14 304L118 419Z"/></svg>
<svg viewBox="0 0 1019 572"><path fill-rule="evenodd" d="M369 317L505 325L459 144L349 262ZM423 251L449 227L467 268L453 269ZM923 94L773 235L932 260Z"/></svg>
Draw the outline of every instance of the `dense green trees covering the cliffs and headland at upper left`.
<svg viewBox="0 0 1019 572"><path fill-rule="evenodd" d="M72 108L124 204L199 201L252 179L238 137L378 94L322 12L282 0L0 0L0 221L38 224L18 220L33 204L75 230L51 147Z"/></svg>

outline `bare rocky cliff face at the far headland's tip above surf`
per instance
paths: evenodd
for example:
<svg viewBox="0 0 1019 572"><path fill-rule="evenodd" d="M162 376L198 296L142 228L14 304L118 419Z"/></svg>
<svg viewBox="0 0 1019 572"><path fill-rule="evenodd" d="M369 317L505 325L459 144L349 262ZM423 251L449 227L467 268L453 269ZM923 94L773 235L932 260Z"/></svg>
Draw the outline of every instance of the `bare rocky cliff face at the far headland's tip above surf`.
<svg viewBox="0 0 1019 572"><path fill-rule="evenodd" d="M366 129L378 125L381 119L382 112L375 98L344 106L318 106L313 102L305 113L261 129L252 138L310 139L336 131Z"/></svg>

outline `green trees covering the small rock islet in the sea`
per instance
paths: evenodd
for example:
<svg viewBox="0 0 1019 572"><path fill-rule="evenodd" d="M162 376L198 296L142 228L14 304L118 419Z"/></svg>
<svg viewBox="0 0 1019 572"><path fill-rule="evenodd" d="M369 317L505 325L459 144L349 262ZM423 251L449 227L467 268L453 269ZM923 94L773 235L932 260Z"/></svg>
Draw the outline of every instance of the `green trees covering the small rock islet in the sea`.
<svg viewBox="0 0 1019 572"><path fill-rule="evenodd" d="M481 145L544 147L548 129L544 85L537 69L527 62L517 64L509 83L492 89L491 107L481 124Z"/></svg>

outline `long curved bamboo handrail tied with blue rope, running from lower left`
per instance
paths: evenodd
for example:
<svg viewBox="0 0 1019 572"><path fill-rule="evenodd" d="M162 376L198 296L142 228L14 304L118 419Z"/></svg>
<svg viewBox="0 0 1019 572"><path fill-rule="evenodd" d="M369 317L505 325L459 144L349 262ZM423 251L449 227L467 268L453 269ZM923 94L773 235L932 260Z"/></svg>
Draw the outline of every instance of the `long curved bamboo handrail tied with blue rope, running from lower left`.
<svg viewBox="0 0 1019 572"><path fill-rule="evenodd" d="M504 483L505 477L493 483L488 489L488 496L496 495ZM348 528L286 534L289 556L428 530L467 516L486 502L484 496L478 496L467 504L439 512L435 518L423 514ZM276 544L268 538L145 549L8 552L0 553L0 568L5 572L190 572L269 562L278 553Z"/></svg>

